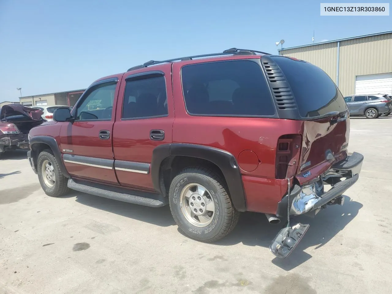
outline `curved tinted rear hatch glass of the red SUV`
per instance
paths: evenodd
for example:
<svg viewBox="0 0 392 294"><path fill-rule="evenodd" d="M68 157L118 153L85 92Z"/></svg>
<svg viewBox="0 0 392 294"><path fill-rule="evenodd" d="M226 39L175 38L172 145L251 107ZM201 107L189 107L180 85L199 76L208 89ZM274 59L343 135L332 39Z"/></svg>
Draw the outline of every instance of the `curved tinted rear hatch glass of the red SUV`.
<svg viewBox="0 0 392 294"><path fill-rule="evenodd" d="M332 111L343 112L347 105L331 78L319 67L283 56L271 56L286 77L301 117L315 117Z"/></svg>

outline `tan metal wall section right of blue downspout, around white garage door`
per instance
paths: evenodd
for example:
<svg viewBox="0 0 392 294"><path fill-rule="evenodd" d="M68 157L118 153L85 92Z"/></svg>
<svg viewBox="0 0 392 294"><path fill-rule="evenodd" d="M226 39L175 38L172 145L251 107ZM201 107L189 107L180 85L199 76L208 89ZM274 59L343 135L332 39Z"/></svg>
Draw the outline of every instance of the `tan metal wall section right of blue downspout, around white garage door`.
<svg viewBox="0 0 392 294"><path fill-rule="evenodd" d="M392 73L392 34L342 41L339 55L339 89L354 94L356 76Z"/></svg>

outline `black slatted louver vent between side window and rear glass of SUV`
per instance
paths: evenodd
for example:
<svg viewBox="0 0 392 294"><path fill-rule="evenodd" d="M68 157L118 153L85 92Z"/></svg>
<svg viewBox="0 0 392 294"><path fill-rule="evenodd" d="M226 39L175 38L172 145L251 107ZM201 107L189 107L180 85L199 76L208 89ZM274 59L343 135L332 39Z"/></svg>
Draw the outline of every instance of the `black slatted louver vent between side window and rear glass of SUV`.
<svg viewBox="0 0 392 294"><path fill-rule="evenodd" d="M278 65L275 62L263 62L263 67L278 109L296 109L297 104L294 100L293 93Z"/></svg>

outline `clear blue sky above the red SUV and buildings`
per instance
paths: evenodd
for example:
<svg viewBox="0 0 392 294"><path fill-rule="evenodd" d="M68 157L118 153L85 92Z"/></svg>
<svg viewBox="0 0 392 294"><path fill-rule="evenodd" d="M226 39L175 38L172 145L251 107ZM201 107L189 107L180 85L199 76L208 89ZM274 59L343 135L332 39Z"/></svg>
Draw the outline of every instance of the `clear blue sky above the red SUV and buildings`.
<svg viewBox="0 0 392 294"><path fill-rule="evenodd" d="M337 1L335 1L337 2ZM368 0L368 2L370 2ZM87 87L148 60L284 47L392 29L317 1L0 0L0 101Z"/></svg>

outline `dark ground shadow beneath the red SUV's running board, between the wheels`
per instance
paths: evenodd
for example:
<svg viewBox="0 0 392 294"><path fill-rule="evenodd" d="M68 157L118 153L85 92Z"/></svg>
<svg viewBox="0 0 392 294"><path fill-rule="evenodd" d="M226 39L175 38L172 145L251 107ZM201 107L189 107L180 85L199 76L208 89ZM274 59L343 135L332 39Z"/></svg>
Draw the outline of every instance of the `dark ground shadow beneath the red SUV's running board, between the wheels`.
<svg viewBox="0 0 392 294"><path fill-rule="evenodd" d="M160 227L169 227L176 224L171 215L169 205L153 208L76 191L67 194L66 197L73 196L76 196L76 202L78 203L125 216L126 218L140 220Z"/></svg>

